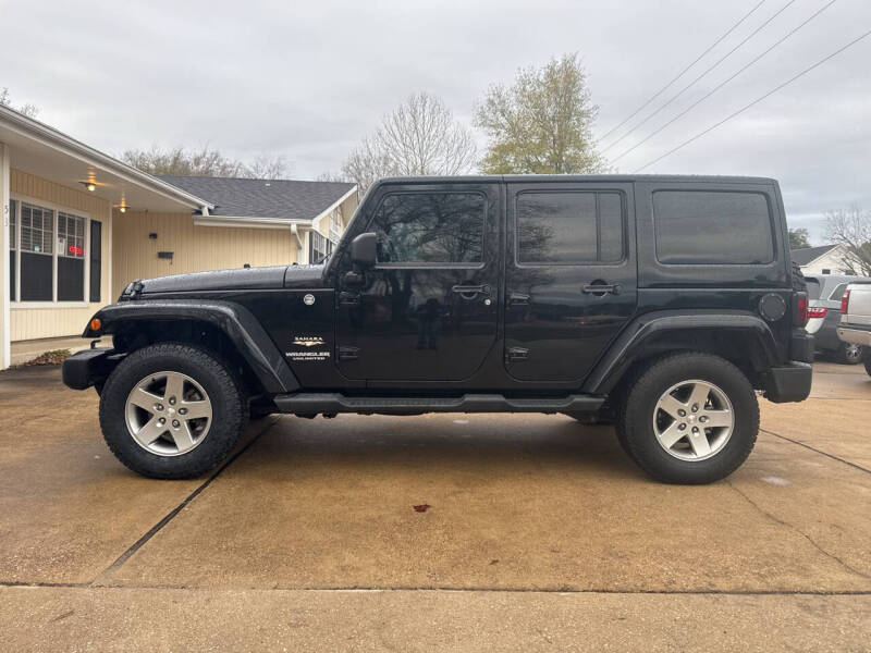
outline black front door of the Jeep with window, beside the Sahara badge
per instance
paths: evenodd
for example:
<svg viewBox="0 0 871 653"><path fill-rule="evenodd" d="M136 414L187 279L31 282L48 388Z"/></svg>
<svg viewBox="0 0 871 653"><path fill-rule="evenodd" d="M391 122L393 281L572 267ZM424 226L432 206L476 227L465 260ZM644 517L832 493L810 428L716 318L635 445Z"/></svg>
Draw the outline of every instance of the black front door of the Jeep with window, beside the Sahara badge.
<svg viewBox="0 0 871 653"><path fill-rule="evenodd" d="M397 383L468 379L496 338L499 185L384 184L371 199L376 209L355 233L378 234L378 263L361 288L343 285L347 270L338 280L341 372Z"/></svg>

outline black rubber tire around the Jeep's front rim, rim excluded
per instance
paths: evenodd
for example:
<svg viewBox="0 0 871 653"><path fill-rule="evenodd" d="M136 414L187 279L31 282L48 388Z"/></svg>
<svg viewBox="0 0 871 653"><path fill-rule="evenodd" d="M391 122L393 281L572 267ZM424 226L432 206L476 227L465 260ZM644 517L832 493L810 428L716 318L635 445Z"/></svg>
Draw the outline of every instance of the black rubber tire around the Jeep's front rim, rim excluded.
<svg viewBox="0 0 871 653"><path fill-rule="evenodd" d="M187 453L163 456L140 446L127 429L131 391L148 374L181 372L199 383L211 401L208 432ZM238 442L248 406L238 381L213 355L182 343L159 343L137 349L112 371L100 395L100 428L111 452L133 471L155 479L187 479L221 464Z"/></svg>

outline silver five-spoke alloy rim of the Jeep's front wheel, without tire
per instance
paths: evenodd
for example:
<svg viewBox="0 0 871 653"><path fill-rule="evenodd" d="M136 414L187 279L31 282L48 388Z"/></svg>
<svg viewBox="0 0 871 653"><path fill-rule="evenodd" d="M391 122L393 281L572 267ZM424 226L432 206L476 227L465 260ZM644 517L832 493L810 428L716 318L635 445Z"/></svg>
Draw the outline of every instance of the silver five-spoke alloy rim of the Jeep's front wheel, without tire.
<svg viewBox="0 0 871 653"><path fill-rule="evenodd" d="M156 372L134 385L124 410L136 443L158 456L179 456L206 439L212 406L203 386L181 372Z"/></svg>

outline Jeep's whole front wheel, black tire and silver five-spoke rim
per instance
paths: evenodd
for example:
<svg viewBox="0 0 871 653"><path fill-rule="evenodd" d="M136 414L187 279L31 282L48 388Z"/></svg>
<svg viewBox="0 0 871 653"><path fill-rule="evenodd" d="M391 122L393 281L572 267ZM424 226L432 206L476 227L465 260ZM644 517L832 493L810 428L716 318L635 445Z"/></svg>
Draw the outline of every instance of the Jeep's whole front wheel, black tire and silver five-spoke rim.
<svg viewBox="0 0 871 653"><path fill-rule="evenodd" d="M226 458L247 408L226 367L179 343L138 349L114 369L100 395L100 427L109 448L133 471L182 479Z"/></svg>

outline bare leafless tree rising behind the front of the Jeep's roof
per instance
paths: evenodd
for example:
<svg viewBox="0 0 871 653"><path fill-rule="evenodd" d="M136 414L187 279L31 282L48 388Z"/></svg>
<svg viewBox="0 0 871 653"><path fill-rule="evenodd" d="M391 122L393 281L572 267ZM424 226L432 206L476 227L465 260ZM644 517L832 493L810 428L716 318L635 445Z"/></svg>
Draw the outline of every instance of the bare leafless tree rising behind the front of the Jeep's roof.
<svg viewBox="0 0 871 653"><path fill-rule="evenodd" d="M439 98L412 95L352 150L342 174L365 190L384 176L468 172L477 148L471 131Z"/></svg>

